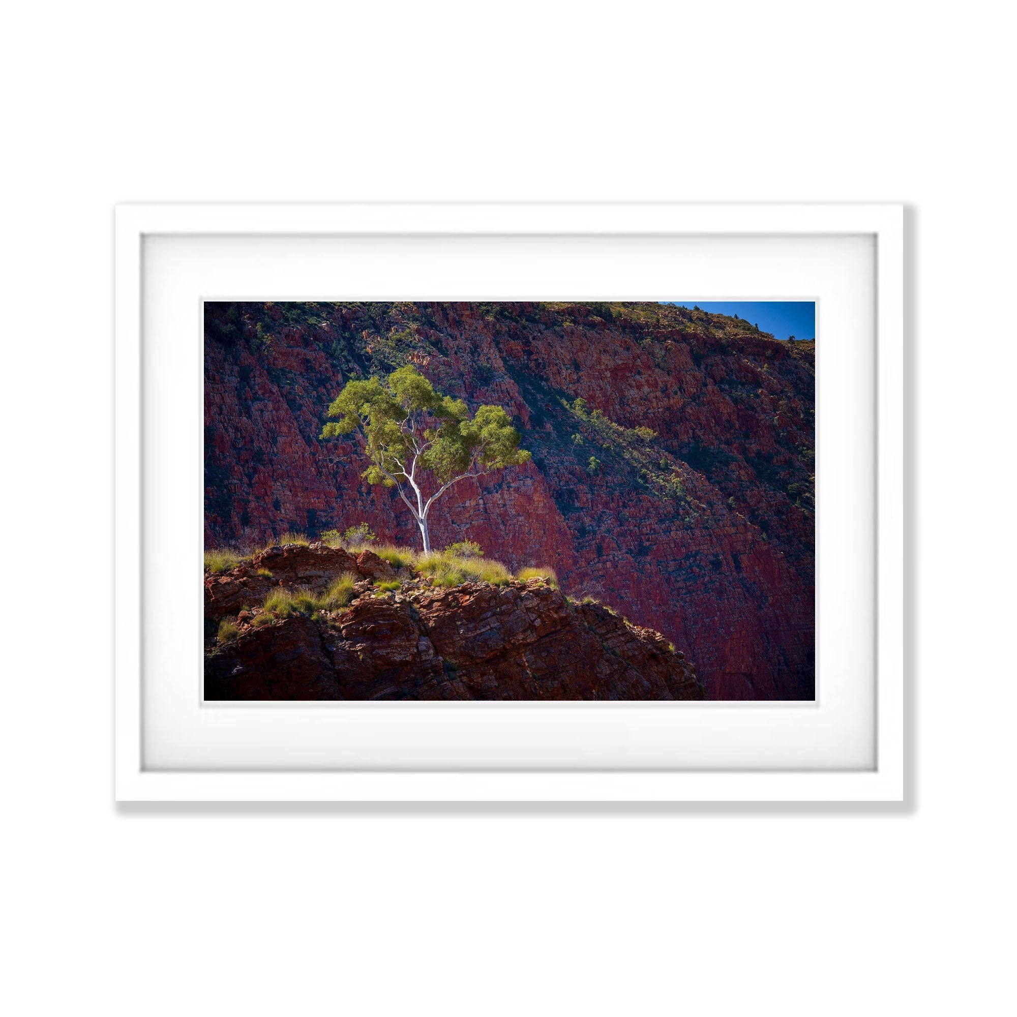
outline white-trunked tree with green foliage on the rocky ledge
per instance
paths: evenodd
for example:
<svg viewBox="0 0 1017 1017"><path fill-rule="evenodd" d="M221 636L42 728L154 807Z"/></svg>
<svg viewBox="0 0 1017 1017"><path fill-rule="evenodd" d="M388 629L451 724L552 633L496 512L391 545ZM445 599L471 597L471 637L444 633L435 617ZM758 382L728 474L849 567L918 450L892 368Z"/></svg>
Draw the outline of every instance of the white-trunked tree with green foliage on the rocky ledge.
<svg viewBox="0 0 1017 1017"><path fill-rule="evenodd" d="M359 431L370 460L361 476L399 491L420 529L425 553L431 549L431 506L453 484L530 459L500 406L481 406L471 418L462 400L436 393L409 364L383 380L348 381L328 407L328 417L321 437Z"/></svg>

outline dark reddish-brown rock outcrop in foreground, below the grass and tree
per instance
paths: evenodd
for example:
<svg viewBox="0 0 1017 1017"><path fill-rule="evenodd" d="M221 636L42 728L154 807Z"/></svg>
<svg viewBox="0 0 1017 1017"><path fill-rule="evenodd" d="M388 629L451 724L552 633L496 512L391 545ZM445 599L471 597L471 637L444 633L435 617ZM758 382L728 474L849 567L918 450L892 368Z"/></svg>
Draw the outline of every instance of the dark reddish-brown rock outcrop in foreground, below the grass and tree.
<svg viewBox="0 0 1017 1017"><path fill-rule="evenodd" d="M238 576L237 580L245 577ZM224 584L220 584L224 585ZM208 700L689 700L695 665L660 633L597 603L573 603L542 580L431 589L369 583L344 610L210 638ZM208 605L216 611L215 601ZM265 619L260 618L263 622Z"/></svg>

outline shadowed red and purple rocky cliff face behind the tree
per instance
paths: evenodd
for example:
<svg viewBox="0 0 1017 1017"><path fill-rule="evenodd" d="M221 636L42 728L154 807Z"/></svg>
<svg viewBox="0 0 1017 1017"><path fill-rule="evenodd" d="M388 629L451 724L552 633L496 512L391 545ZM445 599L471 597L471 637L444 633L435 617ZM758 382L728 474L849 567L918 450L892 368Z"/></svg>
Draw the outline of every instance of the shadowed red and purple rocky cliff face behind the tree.
<svg viewBox="0 0 1017 1017"><path fill-rule="evenodd" d="M713 698L813 698L812 343L658 304L206 304L207 546L362 520L415 546L355 441L317 438L349 377L404 363L504 406L533 453L453 488L436 546L552 566L683 648Z"/></svg>

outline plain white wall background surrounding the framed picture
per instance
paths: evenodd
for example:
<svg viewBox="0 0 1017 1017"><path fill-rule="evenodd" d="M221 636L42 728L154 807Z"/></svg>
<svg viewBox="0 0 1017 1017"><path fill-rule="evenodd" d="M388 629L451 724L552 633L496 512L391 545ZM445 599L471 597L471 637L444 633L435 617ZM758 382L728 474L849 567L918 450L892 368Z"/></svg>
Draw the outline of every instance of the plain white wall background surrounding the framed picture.
<svg viewBox="0 0 1017 1017"><path fill-rule="evenodd" d="M1010 18L9 9L4 1011L1012 1012ZM341 198L908 202L907 807L114 806L112 205Z"/></svg>

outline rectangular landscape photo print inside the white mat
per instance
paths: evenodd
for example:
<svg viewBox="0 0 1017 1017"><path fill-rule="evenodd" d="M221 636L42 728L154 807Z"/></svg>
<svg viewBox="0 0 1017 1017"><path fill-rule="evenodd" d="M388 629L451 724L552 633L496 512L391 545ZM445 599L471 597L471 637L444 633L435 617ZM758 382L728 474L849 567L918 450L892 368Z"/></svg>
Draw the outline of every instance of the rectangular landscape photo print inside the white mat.
<svg viewBox="0 0 1017 1017"><path fill-rule="evenodd" d="M813 302L206 302L204 699L813 700Z"/></svg>

